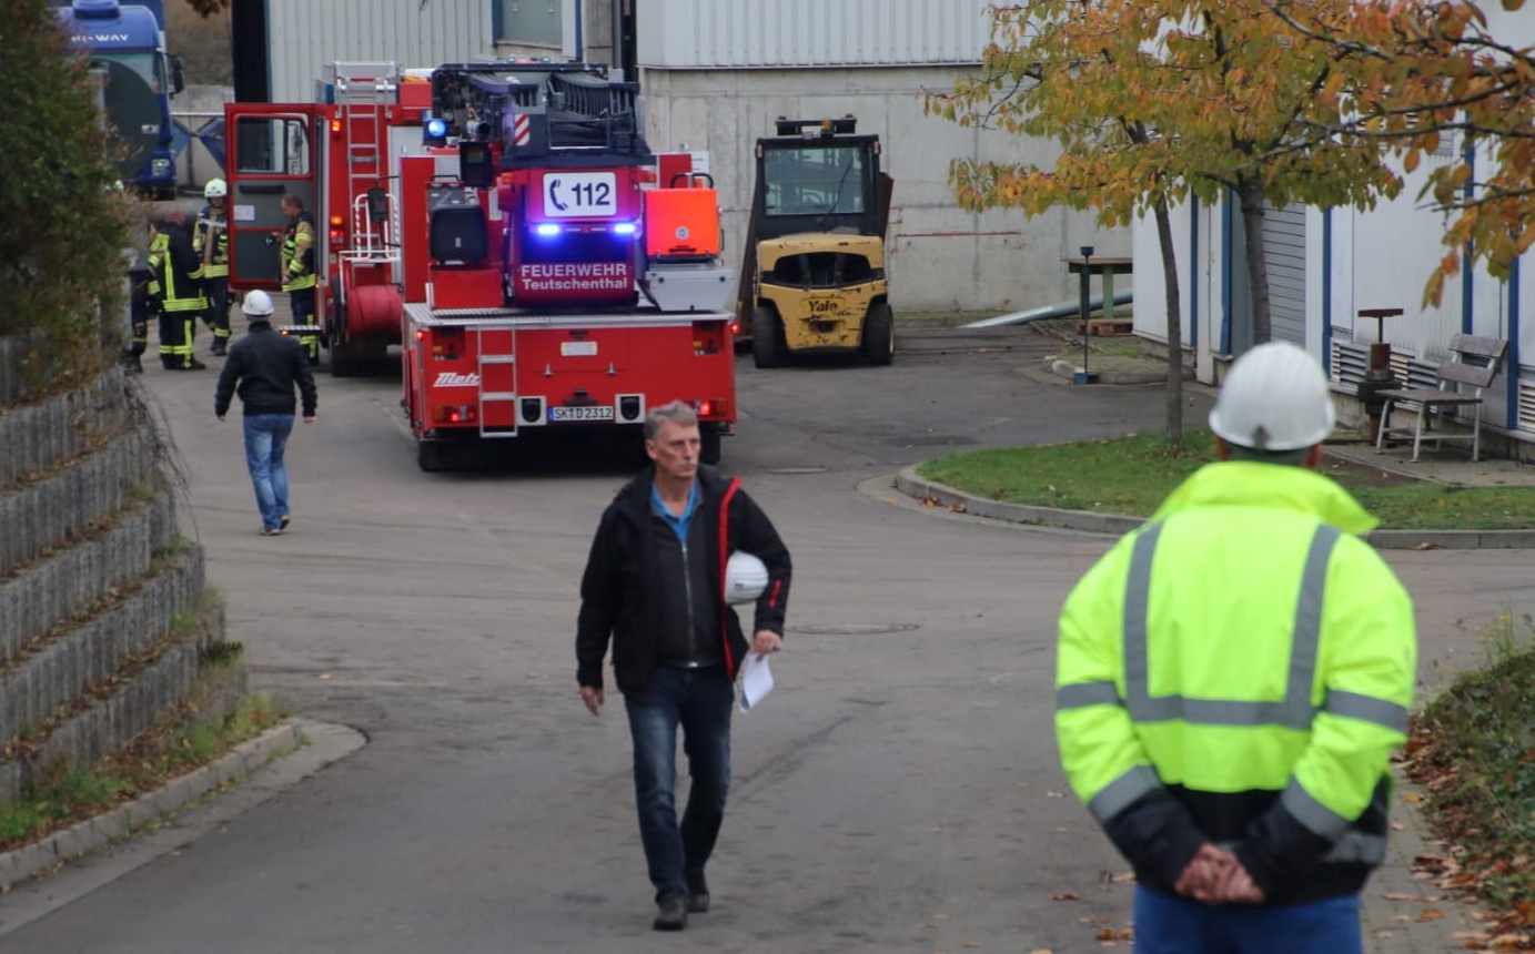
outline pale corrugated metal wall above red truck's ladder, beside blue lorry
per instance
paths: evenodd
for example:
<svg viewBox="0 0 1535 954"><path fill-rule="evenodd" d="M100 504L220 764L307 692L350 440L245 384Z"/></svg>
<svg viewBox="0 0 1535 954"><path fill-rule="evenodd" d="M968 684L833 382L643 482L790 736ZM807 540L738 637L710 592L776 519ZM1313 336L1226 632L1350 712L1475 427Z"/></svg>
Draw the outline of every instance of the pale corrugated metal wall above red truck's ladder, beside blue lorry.
<svg viewBox="0 0 1535 954"><path fill-rule="evenodd" d="M487 0L269 0L267 37L273 103L313 100L338 60L430 67L494 48Z"/></svg>

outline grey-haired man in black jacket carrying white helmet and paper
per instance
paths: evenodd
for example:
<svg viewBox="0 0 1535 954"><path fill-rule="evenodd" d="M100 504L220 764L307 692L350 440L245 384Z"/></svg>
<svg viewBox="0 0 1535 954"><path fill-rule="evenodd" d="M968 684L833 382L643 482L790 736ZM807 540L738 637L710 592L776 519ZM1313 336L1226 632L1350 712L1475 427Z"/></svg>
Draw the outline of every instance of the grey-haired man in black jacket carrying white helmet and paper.
<svg viewBox="0 0 1535 954"><path fill-rule="evenodd" d="M731 785L731 706L748 652L783 644L789 551L766 514L729 480L698 463L694 410L682 402L645 419L654 466L602 514L580 584L576 679L593 715L603 704L602 664L612 669L634 741L640 841L655 887L657 931L678 931L709 910L703 868L714 851ZM748 643L725 601L731 552L768 567ZM692 788L677 822L677 727Z"/></svg>

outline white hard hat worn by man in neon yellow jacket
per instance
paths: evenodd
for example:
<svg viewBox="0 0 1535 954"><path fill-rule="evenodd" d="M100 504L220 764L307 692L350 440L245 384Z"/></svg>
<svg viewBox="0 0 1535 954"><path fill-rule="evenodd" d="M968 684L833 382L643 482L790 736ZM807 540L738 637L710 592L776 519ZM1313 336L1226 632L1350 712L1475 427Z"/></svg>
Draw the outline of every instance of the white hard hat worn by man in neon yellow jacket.
<svg viewBox="0 0 1535 954"><path fill-rule="evenodd" d="M1210 413L1210 429L1254 451L1299 451L1322 443L1335 419L1317 359L1276 340L1231 365Z"/></svg>

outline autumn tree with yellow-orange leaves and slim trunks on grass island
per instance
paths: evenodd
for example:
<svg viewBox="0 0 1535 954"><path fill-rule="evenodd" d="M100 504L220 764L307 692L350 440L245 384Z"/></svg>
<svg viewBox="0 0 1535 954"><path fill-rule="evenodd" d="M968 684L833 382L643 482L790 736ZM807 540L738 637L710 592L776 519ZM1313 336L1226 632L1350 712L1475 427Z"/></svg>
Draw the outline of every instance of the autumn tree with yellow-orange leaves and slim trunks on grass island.
<svg viewBox="0 0 1535 954"><path fill-rule="evenodd" d="M1349 0L1296 0L1306 23L1345 15ZM956 160L967 209L1056 204L1096 209L1105 225L1153 215L1168 294L1168 344L1180 340L1168 206L1188 196L1236 201L1251 288L1251 340L1269 337L1263 207L1371 207L1401 178L1383 149L1340 140L1340 113L1319 92L1351 86L1362 54L1271 15L1263 0L1025 0L993 8L981 72L929 94L927 109L961 126L1061 144L1053 169ZM1334 110L1339 98L1334 98ZM1180 416L1170 368L1168 434Z"/></svg>

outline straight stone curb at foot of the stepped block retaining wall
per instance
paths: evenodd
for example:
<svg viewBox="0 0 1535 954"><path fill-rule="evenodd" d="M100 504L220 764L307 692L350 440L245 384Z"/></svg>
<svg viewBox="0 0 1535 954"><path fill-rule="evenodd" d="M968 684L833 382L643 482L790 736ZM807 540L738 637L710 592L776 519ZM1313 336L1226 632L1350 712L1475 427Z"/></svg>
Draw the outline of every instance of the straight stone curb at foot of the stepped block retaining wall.
<svg viewBox="0 0 1535 954"><path fill-rule="evenodd" d="M0 853L0 888L18 885L63 862L75 860L132 836L144 828L144 825L173 814L209 791L249 779L273 759L292 755L309 745L313 735L328 735L330 729L321 722L289 719L253 739L235 745L223 758L172 779L163 788L134 802L114 808L106 814L86 819L71 828L55 831L34 845ZM335 758L339 758L339 755L333 755L328 761ZM14 926L18 925L8 923L6 929Z"/></svg>

